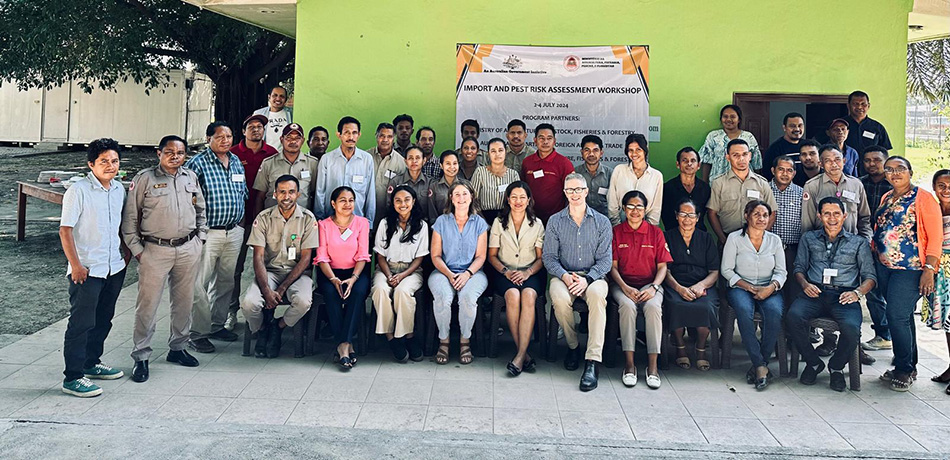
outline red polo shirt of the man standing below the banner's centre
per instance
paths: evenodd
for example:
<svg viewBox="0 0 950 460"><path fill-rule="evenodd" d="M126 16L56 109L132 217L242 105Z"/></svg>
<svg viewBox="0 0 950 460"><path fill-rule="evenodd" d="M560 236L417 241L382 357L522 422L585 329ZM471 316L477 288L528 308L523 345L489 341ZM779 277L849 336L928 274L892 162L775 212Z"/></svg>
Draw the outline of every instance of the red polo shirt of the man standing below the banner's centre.
<svg viewBox="0 0 950 460"><path fill-rule="evenodd" d="M535 174L544 175L535 177ZM525 157L521 163L521 179L531 187L534 197L534 212L547 223L548 217L556 214L567 206L567 197L564 196L564 178L574 172L574 165L567 157L551 152L547 158L541 159L540 153L533 153Z"/></svg>

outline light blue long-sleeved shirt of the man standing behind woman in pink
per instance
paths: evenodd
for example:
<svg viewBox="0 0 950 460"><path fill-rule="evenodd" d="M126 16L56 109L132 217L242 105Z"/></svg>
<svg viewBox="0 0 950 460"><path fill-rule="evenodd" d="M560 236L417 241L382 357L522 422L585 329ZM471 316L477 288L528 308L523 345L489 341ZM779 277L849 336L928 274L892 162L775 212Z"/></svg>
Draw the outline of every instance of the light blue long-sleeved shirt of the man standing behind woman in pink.
<svg viewBox="0 0 950 460"><path fill-rule="evenodd" d="M329 217L333 213L330 207L330 194L337 187L346 185L356 192L357 216L369 219L376 217L376 174L373 157L365 150L356 148L349 160L340 147L327 152L320 160L320 172L317 174L317 187L313 197L313 213L318 219Z"/></svg>

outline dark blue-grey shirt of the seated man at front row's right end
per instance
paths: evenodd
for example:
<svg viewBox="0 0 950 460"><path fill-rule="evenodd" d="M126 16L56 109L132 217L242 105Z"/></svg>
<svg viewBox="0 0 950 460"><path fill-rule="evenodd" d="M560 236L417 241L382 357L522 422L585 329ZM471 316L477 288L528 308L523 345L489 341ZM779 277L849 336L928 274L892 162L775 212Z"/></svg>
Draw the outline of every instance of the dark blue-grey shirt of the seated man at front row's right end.
<svg viewBox="0 0 950 460"><path fill-rule="evenodd" d="M824 282L827 269L837 270L830 283ZM824 229L805 232L795 256L795 273L805 275L812 284L844 289L854 289L865 280L877 281L868 240L845 230L834 241L828 241Z"/></svg>

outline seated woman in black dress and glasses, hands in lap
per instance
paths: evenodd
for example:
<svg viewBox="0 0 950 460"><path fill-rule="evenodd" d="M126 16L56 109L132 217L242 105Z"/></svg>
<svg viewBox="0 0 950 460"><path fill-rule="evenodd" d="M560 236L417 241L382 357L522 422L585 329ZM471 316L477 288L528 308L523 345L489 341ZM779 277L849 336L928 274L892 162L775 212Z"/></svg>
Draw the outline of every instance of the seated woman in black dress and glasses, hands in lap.
<svg viewBox="0 0 950 460"><path fill-rule="evenodd" d="M708 233L697 230L700 209L690 198L679 202L675 212L677 227L667 230L667 247L673 262L667 265L666 317L676 337L676 364L689 369L685 328L696 328L696 367L709 370L706 339L710 327L719 327L719 250ZM717 340L713 337L713 340Z"/></svg>

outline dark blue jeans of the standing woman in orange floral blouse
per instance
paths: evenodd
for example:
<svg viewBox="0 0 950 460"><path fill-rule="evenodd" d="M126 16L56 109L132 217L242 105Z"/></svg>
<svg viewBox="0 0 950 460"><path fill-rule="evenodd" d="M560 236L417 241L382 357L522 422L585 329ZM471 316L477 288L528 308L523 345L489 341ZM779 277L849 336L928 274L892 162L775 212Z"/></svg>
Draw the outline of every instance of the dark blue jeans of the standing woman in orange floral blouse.
<svg viewBox="0 0 950 460"><path fill-rule="evenodd" d="M917 328L914 309L920 300L920 270L894 270L875 262L877 283L887 301L887 325L894 344L894 369L917 370Z"/></svg>

